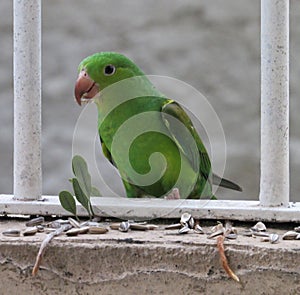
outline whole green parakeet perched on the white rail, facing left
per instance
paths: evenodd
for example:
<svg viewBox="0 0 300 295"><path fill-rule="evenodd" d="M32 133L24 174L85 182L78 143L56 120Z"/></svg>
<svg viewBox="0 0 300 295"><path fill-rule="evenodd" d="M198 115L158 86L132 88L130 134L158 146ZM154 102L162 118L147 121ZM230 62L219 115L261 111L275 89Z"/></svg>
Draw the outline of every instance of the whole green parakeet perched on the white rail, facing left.
<svg viewBox="0 0 300 295"><path fill-rule="evenodd" d="M241 191L212 173L208 153L184 109L163 95L130 59L114 52L85 58L75 98L94 101L105 157L128 197L213 197L212 184Z"/></svg>

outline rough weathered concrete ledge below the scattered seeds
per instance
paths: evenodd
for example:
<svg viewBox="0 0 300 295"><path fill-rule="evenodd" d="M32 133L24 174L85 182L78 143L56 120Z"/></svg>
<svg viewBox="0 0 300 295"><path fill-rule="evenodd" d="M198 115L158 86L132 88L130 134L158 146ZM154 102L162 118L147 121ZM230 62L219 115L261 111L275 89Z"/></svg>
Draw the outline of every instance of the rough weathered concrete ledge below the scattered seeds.
<svg viewBox="0 0 300 295"><path fill-rule="evenodd" d="M24 222L0 223L1 232L12 227L24 228ZM60 236L49 244L36 277L31 271L45 234L15 238L0 234L1 290L3 294L300 293L300 241L270 244L241 235L226 241L229 263L241 280L238 284L222 269L215 240L170 233L160 226L148 232Z"/></svg>

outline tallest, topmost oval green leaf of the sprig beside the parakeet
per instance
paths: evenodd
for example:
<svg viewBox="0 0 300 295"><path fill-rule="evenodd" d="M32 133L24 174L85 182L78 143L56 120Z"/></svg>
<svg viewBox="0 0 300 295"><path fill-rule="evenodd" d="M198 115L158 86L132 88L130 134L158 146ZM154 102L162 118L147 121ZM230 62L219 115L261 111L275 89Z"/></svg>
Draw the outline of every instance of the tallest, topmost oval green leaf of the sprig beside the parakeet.
<svg viewBox="0 0 300 295"><path fill-rule="evenodd" d="M85 160L79 155L74 156L72 159L72 169L74 175L77 177L80 188L89 198L92 191L92 181Z"/></svg>

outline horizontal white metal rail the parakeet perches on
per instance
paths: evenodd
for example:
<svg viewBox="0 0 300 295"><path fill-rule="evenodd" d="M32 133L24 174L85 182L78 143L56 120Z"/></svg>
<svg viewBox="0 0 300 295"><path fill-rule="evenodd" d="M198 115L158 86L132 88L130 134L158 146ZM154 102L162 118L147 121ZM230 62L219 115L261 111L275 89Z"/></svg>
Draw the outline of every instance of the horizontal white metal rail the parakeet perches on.
<svg viewBox="0 0 300 295"><path fill-rule="evenodd" d="M190 212L195 218L239 221L300 222L300 203L288 207L262 207L258 201L224 200L163 200L94 197L95 214L123 219L180 218ZM87 216L77 203L78 216ZM12 195L0 195L0 214L70 215L57 196L43 196L43 200L22 202Z"/></svg>

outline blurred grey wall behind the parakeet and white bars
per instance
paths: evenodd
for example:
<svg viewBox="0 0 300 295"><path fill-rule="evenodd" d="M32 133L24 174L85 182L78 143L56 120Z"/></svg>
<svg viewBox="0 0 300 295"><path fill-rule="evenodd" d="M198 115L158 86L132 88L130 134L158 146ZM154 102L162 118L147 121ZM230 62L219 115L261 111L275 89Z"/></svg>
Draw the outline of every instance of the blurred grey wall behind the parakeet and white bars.
<svg viewBox="0 0 300 295"><path fill-rule="evenodd" d="M0 193L12 193L13 181L12 2L0 2ZM225 131L225 177L244 188L220 190L218 197L258 198L260 1L42 2L44 194L57 195L71 176L82 111L73 100L78 63L94 52L118 51L145 73L180 79L207 97ZM290 17L291 193L300 201L300 1L291 1ZM109 179L112 172L105 173Z"/></svg>

